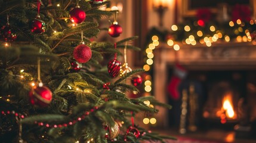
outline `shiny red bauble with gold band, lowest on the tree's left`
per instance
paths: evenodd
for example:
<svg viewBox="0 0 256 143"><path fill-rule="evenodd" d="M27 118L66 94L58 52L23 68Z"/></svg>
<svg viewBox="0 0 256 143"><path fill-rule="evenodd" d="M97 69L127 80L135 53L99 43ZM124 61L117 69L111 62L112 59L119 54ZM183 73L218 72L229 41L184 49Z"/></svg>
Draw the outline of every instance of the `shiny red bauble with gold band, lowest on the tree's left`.
<svg viewBox="0 0 256 143"><path fill-rule="evenodd" d="M32 105L47 107L51 103L53 94L46 86L36 86L29 92L29 100Z"/></svg>

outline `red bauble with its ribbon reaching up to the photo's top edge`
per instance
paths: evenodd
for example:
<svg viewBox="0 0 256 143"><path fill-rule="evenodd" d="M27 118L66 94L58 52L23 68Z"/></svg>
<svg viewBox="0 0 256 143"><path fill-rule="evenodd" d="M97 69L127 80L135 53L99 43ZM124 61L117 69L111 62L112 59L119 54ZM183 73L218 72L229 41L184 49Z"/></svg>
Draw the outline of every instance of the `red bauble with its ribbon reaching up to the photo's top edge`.
<svg viewBox="0 0 256 143"><path fill-rule="evenodd" d="M40 19L39 11L40 11L41 1L38 0L38 15L35 19L30 22L31 32L35 34L41 34L45 32L45 23Z"/></svg>

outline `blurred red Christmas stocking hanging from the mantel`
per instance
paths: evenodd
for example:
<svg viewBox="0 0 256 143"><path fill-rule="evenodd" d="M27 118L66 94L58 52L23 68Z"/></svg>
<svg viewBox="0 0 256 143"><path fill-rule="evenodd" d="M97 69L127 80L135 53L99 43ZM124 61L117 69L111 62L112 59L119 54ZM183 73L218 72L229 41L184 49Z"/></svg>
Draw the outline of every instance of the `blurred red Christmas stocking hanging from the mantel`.
<svg viewBox="0 0 256 143"><path fill-rule="evenodd" d="M171 80L167 86L167 90L172 99L178 100L180 98L180 94L178 92L178 86L181 83L181 80L186 76L187 71L181 67L179 64L175 64L174 73L171 77Z"/></svg>

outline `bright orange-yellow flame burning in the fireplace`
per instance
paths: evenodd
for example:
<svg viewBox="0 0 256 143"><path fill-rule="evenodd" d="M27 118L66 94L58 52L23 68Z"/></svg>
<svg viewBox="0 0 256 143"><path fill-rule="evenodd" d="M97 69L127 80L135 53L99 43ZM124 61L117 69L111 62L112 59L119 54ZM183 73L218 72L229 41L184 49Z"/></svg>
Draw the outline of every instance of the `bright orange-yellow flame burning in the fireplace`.
<svg viewBox="0 0 256 143"><path fill-rule="evenodd" d="M235 117L235 111L233 109L232 105L232 95L227 94L223 98L223 109L226 111L226 116L229 118L234 118Z"/></svg>

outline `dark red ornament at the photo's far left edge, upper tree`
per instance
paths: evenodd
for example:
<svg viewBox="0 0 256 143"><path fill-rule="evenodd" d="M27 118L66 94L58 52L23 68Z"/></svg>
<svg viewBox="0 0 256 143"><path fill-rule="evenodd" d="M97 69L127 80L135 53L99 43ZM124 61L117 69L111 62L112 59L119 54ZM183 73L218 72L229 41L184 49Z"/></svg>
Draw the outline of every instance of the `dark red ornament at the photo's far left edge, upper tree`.
<svg viewBox="0 0 256 143"><path fill-rule="evenodd" d="M2 26L0 29L0 38L5 42L13 42L16 40L17 35L13 33L11 26L7 23L5 26Z"/></svg>

